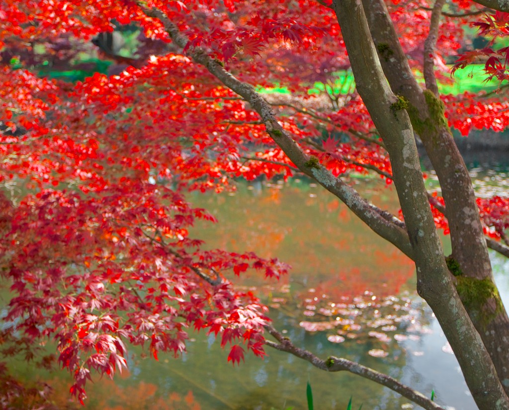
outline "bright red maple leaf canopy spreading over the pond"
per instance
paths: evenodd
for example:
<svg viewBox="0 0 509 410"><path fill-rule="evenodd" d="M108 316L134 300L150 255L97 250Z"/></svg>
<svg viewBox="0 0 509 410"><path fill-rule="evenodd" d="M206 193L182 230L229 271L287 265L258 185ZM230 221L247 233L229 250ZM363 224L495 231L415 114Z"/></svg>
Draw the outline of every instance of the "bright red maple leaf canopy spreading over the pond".
<svg viewBox="0 0 509 410"><path fill-rule="evenodd" d="M387 3L415 70L422 70L430 6L427 0ZM479 9L470 2L451 7ZM147 15L151 9L189 39L185 49ZM444 62L462 47L472 18L478 17L446 17L441 24L435 64L443 81L450 81ZM90 51L92 36L127 24L158 44L157 55L140 68L71 84L44 78L28 60L41 53L75 58L51 45L71 38ZM476 24L489 35L507 34L506 14ZM234 364L244 357L240 344L264 355L266 308L228 277L249 268L278 277L287 267L252 253L202 248L188 228L214 218L193 208L184 193L233 189L239 177L287 179L296 168L257 113L193 63L189 50L202 47L255 86L285 87L291 94L266 94L280 124L334 175L375 171L390 183L388 155L369 114L346 77L338 85L337 73L349 63L335 16L313 0L256 6L246 0L1 0L0 46L17 56L0 67L0 258L12 284L6 319L30 340L58 341L59 361L74 374L71 393L80 400L91 370L112 375L125 367L124 341L149 345L157 359L159 350L182 352L186 329L194 327L221 334ZM507 48L464 53L456 68L479 55L489 57L490 76L507 79ZM449 125L464 135L509 124L509 102L500 94L443 101ZM500 237L507 199L479 206L487 231ZM445 224L440 215L437 223Z"/></svg>

